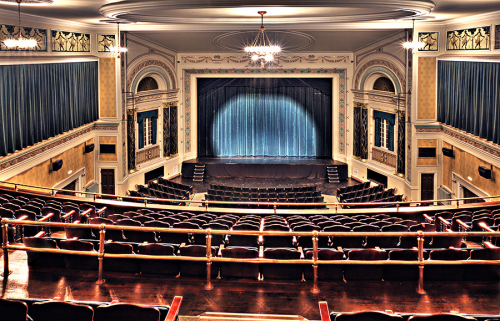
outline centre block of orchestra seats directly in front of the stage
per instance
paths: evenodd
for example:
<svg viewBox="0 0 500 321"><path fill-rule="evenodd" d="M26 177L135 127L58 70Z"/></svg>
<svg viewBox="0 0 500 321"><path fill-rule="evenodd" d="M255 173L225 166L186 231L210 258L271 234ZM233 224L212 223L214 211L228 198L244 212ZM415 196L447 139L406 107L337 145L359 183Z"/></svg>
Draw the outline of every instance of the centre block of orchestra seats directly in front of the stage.
<svg viewBox="0 0 500 321"><path fill-rule="evenodd" d="M219 202L253 202L253 203L290 203L278 205L288 209L322 209L324 205L298 206L293 203L323 203L324 198L316 186L245 188L211 184L205 196L206 201ZM217 207L232 208L273 208L266 204L214 204Z"/></svg>

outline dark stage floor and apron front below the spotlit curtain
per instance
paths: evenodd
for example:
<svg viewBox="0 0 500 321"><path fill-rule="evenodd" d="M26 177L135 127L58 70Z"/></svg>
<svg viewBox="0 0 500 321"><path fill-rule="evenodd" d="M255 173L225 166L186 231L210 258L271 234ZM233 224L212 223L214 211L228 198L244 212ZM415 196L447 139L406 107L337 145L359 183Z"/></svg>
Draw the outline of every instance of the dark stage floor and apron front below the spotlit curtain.
<svg viewBox="0 0 500 321"><path fill-rule="evenodd" d="M200 157L182 163L182 176L193 177L196 165L205 165L205 177L216 178L324 178L327 166L337 166L339 178L348 177L347 164L307 157Z"/></svg>

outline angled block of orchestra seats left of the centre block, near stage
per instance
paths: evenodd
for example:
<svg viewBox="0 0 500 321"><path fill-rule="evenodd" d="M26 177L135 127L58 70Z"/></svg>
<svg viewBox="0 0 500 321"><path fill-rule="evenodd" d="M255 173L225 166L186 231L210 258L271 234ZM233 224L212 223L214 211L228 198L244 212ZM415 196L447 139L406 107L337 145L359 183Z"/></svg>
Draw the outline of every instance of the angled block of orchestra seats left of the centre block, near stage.
<svg viewBox="0 0 500 321"><path fill-rule="evenodd" d="M148 185L136 185L137 190L130 190L133 197L162 198L170 200L188 200L193 194L193 186L172 182L163 177L150 180ZM180 202L161 201L158 204L180 205Z"/></svg>

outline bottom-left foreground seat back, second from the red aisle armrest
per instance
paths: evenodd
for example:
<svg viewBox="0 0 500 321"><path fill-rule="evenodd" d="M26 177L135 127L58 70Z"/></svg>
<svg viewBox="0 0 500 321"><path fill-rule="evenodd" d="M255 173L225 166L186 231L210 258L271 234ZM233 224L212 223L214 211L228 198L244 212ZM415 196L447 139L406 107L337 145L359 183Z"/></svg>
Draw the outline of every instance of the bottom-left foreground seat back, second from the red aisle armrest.
<svg viewBox="0 0 500 321"><path fill-rule="evenodd" d="M33 303L29 315L34 321L92 321L94 310L88 305L47 301Z"/></svg>

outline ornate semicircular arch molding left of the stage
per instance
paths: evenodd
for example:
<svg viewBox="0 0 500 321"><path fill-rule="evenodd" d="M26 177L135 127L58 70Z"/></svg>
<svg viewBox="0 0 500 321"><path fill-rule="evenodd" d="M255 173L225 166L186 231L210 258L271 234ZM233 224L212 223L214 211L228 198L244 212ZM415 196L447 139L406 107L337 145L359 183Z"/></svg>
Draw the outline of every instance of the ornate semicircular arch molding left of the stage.
<svg viewBox="0 0 500 321"><path fill-rule="evenodd" d="M157 59L145 59L132 66L127 77L127 91L137 92L137 85L145 75L160 77L166 84L166 90L177 88L175 74L165 62Z"/></svg>

